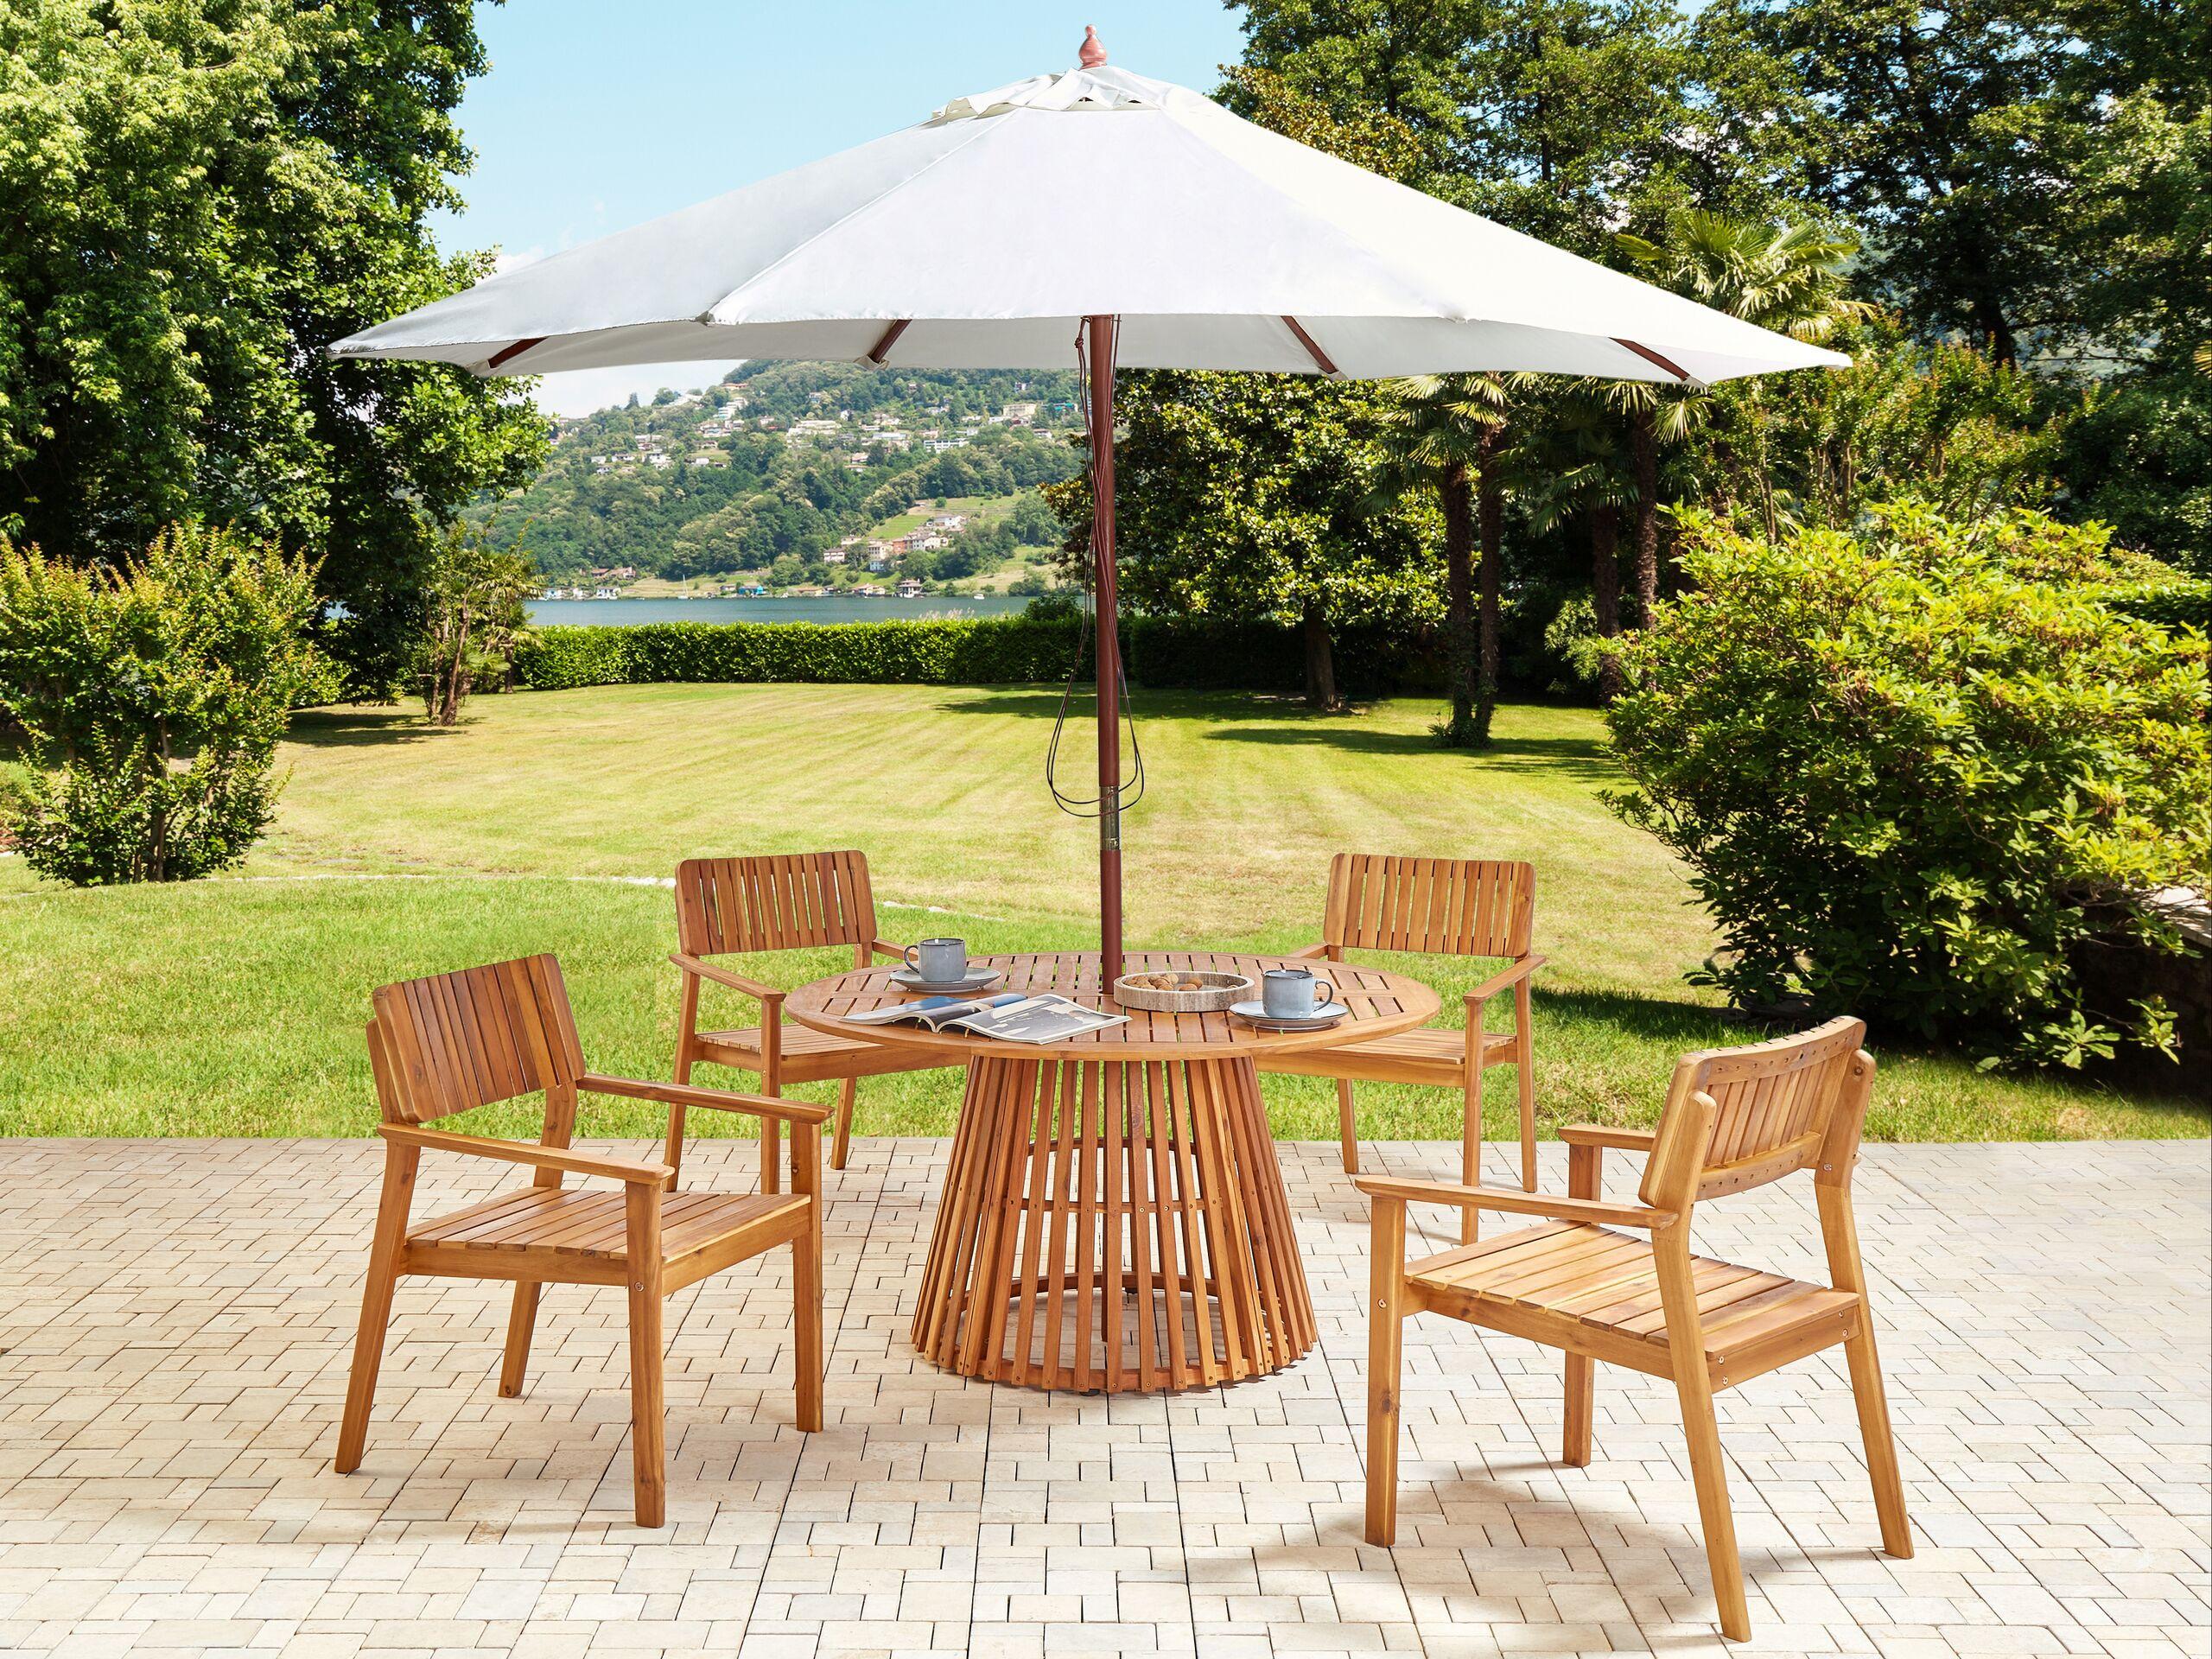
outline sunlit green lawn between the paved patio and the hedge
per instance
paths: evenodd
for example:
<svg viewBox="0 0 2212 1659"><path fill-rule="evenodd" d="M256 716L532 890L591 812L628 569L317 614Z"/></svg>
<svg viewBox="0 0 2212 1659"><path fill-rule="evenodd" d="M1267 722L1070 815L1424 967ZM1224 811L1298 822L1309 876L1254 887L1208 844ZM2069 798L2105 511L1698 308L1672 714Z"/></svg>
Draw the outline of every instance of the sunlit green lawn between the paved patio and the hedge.
<svg viewBox="0 0 2212 1659"><path fill-rule="evenodd" d="M71 891L0 860L0 1126L358 1135L374 1119L369 989L542 949L562 958L593 1062L666 1075L677 975L659 883L686 854L856 845L894 938L1082 947L1095 841L1044 794L1053 706L1040 688L622 686L480 699L449 732L409 710L303 714L276 830L234 878ZM1681 1048L1743 1040L1681 984L1710 931L1681 872L1597 801L1615 772L1590 712L1506 708L1480 757L1436 750L1422 701L1316 717L1139 692L1137 714L1150 792L1128 818L1133 945L1303 945L1340 847L1520 856L1540 872L1553 960L1537 989L1546 1126L1650 1121ZM845 960L745 967L796 982ZM1400 964L1447 1006L1489 967ZM1878 1053L1880 1137L2208 1126L2179 1099ZM942 1133L956 1091L951 1073L869 1082L860 1130ZM1267 1079L1267 1099L1279 1133L1334 1133L1325 1082ZM1458 1133L1444 1093L1360 1099L1371 1135ZM602 1106L591 1128L646 1124ZM1489 1128L1509 1135L1509 1113Z"/></svg>

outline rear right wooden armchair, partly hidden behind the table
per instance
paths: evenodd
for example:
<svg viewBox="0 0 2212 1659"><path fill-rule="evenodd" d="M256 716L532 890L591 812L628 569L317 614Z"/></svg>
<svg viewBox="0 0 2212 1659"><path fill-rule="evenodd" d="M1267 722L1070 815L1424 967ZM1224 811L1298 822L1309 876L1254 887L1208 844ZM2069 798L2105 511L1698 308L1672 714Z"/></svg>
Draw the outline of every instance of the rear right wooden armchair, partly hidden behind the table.
<svg viewBox="0 0 2212 1659"><path fill-rule="evenodd" d="M1467 1102L1460 1128L1460 1179L1482 1179L1482 1073L1513 1066L1520 1082L1522 1186L1535 1192L1535 1044L1528 1029L1528 978L1544 958L1528 949L1535 922L1535 865L1500 858L1387 858L1340 852L1329 860L1321 942L1307 960L1343 962L1345 951L1504 956L1511 964L1467 993L1467 1029L1420 1026L1387 1037L1265 1055L1261 1071L1336 1079L1345 1175L1358 1175L1358 1119L1352 1084L1431 1084ZM1513 1031L1486 1031L1491 1000L1513 991ZM1473 1241L1478 1217L1460 1223Z"/></svg>

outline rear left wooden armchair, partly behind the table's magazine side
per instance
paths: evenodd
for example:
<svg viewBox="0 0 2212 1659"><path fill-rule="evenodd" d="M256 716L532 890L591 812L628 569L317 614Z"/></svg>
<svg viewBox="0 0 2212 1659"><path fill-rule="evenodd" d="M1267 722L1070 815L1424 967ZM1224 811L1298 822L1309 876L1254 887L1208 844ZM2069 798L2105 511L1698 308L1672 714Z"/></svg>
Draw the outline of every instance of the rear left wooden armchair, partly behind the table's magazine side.
<svg viewBox="0 0 2212 1659"><path fill-rule="evenodd" d="M803 852L754 858L686 858L677 865L677 953L684 969L684 1006L677 1020L679 1084L706 1060L761 1079L763 1095L781 1095L783 1084L836 1079L836 1139L830 1168L845 1168L852 1146L852 1106L860 1077L894 1071L929 1071L945 1060L900 1042L858 1042L783 1022L785 993L761 980L710 962L714 956L759 956L849 945L854 967L878 956L905 962L898 945L876 938L876 896L867 885L867 856L858 852ZM712 980L761 1004L761 1022L739 1031L699 1031L699 987ZM781 1126L761 1121L761 1190L783 1186L779 1161ZM670 1168L684 1164L684 1108L668 1113ZM670 1177L675 1186L675 1177Z"/></svg>

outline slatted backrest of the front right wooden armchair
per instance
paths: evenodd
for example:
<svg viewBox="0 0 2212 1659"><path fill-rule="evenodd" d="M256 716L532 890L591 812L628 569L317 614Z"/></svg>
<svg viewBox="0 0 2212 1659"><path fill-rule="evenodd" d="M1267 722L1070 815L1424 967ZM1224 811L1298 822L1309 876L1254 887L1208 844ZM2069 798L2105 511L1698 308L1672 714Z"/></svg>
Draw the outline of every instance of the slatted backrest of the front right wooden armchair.
<svg viewBox="0 0 2212 1659"><path fill-rule="evenodd" d="M1745 1192L1836 1159L1847 1175L1874 1088L1865 1037L1865 1020L1829 1020L1794 1037L1683 1055L1644 1168L1644 1201L1666 1206L1683 1197L1668 1188L1688 1175L1681 1159L1694 1150L1683 1137L1699 1095L1712 1102L1712 1133L1692 1197Z"/></svg>

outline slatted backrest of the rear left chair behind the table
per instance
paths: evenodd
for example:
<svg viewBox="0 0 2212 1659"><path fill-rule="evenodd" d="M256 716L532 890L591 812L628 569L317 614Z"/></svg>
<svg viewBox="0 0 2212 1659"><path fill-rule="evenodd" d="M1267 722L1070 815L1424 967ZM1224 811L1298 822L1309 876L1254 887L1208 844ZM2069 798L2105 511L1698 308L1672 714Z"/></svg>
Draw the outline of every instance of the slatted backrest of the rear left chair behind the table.
<svg viewBox="0 0 2212 1659"><path fill-rule="evenodd" d="M867 856L801 852L677 865L677 945L688 956L792 951L876 938Z"/></svg>

